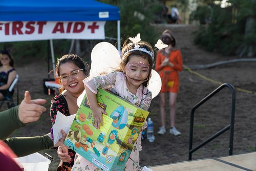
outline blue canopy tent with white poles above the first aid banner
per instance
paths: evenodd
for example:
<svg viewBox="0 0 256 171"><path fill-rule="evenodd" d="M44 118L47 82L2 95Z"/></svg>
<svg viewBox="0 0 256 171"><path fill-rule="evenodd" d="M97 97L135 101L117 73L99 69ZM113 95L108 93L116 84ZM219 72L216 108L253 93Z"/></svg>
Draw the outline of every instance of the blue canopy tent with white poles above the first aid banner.
<svg viewBox="0 0 256 171"><path fill-rule="evenodd" d="M120 50L120 11L118 7L103 4L93 0L1 0L0 1L0 21L50 21L50 22L77 22L77 21L117 21L117 42ZM2 25L1 25L2 24ZM0 22L0 33L4 32L5 26ZM2 37L0 42L13 41L8 36ZM65 34L63 34L63 37ZM44 39L44 38L42 38ZM53 43L50 38L51 56L53 70L55 71L55 58ZM80 39L83 39L82 37ZM84 38L86 39L86 38ZM38 39L39 40L39 39ZM19 41L19 40L17 40Z"/></svg>

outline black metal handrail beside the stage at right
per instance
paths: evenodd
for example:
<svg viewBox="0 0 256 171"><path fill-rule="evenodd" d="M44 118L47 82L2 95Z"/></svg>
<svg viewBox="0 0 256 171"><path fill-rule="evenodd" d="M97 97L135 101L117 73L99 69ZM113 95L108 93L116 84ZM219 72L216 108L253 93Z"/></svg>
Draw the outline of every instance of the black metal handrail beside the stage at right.
<svg viewBox="0 0 256 171"><path fill-rule="evenodd" d="M231 91L232 95L232 101L231 101L231 119L230 124L224 127L221 131L217 132L216 134L212 135L196 147L192 148L193 145L193 128L194 128L194 113L199 106L201 106L204 102L206 102L208 99L210 99L212 96L217 94L219 91L221 91L223 88L228 87ZM189 131L189 149L188 149L188 160L191 160L192 153L197 151L197 149L201 148L211 140L217 138L221 134L225 133L227 130L230 129L230 136L229 136L229 155L233 154L233 135L234 135L234 109L235 109L235 102L236 102L236 93L234 92L234 87L229 83L223 83L220 87L218 87L216 90L212 91L208 96L203 98L201 101L199 101L191 110L190 113L190 131Z"/></svg>

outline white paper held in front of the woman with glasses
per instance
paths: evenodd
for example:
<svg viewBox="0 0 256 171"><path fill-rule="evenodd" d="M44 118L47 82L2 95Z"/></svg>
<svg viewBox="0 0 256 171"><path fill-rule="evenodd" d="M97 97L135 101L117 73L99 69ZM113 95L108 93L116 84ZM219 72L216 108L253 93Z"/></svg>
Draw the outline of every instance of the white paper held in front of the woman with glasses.
<svg viewBox="0 0 256 171"><path fill-rule="evenodd" d="M62 134L60 130L65 131L68 134L70 126L75 119L76 115L65 116L61 112L57 112L55 123L53 124L53 144L55 145L60 138L62 138Z"/></svg>

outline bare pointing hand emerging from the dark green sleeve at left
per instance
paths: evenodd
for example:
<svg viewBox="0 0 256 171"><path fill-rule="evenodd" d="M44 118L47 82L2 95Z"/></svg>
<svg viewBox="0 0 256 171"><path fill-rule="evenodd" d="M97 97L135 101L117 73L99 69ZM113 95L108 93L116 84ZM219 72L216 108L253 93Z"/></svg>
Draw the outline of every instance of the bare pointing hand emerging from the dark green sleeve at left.
<svg viewBox="0 0 256 171"><path fill-rule="evenodd" d="M23 123L37 121L41 114L46 111L42 104L46 103L45 99L31 100L29 91L25 92L24 99L18 107L18 118Z"/></svg>

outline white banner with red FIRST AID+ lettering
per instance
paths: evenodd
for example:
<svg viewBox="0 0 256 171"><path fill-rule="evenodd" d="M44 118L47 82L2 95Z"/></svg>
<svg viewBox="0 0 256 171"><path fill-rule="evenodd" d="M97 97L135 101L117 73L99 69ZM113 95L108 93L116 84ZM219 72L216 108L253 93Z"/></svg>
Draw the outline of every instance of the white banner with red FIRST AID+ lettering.
<svg viewBox="0 0 256 171"><path fill-rule="evenodd" d="M105 21L0 22L0 42L47 39L105 39Z"/></svg>

